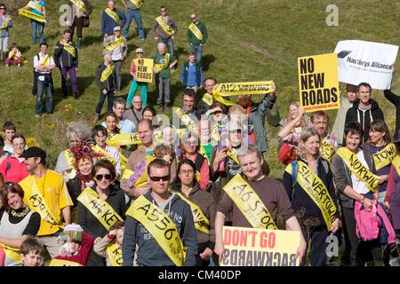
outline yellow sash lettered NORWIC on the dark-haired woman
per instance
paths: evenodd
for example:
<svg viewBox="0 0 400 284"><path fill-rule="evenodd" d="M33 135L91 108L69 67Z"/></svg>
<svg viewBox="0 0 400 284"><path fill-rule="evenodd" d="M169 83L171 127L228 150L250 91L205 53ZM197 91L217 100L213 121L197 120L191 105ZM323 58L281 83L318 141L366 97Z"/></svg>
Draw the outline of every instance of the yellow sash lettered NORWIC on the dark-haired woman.
<svg viewBox="0 0 400 284"><path fill-rule="evenodd" d="M357 159L356 154L348 150L348 148L341 147L336 151L339 154L340 158L343 159L343 162L346 163L348 169L358 178L364 181L367 185L368 189L372 191L372 193L377 192L377 187L380 182L380 177L372 174L370 170L368 170L364 165Z"/></svg>

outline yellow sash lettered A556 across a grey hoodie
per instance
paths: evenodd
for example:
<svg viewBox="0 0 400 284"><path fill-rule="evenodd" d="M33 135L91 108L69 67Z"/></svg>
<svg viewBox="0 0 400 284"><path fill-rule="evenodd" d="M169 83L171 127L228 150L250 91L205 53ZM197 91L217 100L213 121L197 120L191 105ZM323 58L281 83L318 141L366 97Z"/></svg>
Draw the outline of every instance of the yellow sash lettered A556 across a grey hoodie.
<svg viewBox="0 0 400 284"><path fill-rule="evenodd" d="M171 218L163 210L140 195L137 200L132 202L126 215L138 220L151 233L175 265L183 266L185 264L186 251L180 240L180 234Z"/></svg>

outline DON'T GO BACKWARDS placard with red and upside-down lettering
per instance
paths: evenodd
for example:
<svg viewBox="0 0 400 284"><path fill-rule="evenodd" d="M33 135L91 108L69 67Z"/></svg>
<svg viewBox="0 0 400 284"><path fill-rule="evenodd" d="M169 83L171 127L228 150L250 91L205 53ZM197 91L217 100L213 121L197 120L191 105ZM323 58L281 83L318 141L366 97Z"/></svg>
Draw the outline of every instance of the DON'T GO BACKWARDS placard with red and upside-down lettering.
<svg viewBox="0 0 400 284"><path fill-rule="evenodd" d="M220 266L299 266L300 232L224 226Z"/></svg>

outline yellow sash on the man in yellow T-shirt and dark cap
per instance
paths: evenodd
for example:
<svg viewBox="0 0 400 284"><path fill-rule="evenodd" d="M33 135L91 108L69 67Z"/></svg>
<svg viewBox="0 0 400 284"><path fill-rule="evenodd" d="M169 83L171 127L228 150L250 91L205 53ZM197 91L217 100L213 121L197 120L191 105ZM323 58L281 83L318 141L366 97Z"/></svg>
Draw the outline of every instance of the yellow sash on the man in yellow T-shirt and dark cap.
<svg viewBox="0 0 400 284"><path fill-rule="evenodd" d="M44 221L52 225L62 225L60 223L60 219L52 215L52 211L49 209L44 197L37 188L35 177L33 177L33 175L29 175L28 177L22 179L20 181L20 185L23 187L25 194L28 196L26 201L28 201L29 208L32 211L39 213L40 217L42 217Z"/></svg>

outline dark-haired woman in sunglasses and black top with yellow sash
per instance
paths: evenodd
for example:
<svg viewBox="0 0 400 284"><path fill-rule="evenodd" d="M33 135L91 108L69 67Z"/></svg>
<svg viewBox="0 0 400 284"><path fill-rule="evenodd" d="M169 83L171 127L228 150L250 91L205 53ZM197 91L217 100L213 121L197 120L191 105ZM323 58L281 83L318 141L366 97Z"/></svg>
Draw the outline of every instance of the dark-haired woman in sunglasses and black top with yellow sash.
<svg viewBox="0 0 400 284"><path fill-rule="evenodd" d="M114 181L116 169L108 161L96 162L92 169L95 185L86 188L77 198L78 224L92 234L94 244L109 232L111 225L125 218L125 196ZM91 253L87 266L105 266L104 259Z"/></svg>

